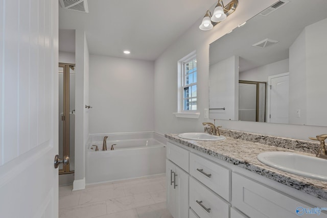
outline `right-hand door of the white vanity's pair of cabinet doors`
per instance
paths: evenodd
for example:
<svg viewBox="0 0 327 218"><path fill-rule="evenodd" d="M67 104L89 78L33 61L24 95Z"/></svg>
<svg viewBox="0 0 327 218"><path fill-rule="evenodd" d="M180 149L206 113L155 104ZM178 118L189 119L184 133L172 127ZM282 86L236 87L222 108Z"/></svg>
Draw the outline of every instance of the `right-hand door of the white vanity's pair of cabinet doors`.
<svg viewBox="0 0 327 218"><path fill-rule="evenodd" d="M174 217L189 217L189 175L185 173L181 168L176 166L175 175L173 179L177 185L175 186L176 216Z"/></svg>

